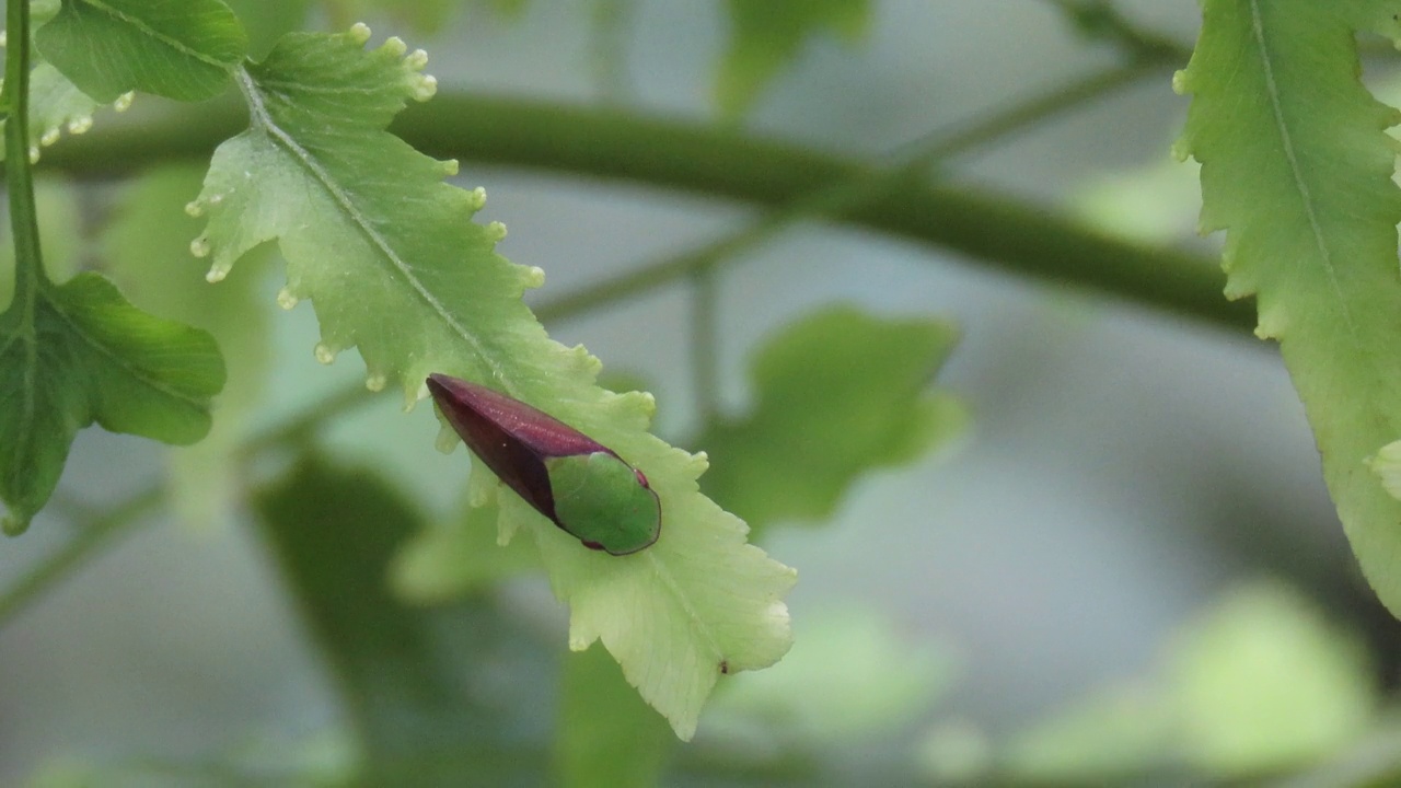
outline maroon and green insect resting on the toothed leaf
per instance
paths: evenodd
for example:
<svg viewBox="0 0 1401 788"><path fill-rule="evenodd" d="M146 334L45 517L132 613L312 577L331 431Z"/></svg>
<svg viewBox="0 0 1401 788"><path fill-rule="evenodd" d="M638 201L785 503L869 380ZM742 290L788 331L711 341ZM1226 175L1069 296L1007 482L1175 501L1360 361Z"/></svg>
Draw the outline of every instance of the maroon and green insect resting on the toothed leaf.
<svg viewBox="0 0 1401 788"><path fill-rule="evenodd" d="M427 386L467 447L584 547L628 555L657 541L661 501L611 449L485 386L447 374L430 374Z"/></svg>

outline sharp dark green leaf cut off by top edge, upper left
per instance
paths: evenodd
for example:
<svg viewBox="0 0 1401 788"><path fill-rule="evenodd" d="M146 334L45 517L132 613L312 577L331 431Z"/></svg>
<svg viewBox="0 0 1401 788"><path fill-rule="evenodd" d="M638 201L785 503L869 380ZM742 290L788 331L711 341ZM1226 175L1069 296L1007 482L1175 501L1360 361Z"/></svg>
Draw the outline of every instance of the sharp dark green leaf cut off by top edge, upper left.
<svg viewBox="0 0 1401 788"><path fill-rule="evenodd" d="M248 50L238 17L220 0L64 0L34 43L99 102L132 90L210 98Z"/></svg>

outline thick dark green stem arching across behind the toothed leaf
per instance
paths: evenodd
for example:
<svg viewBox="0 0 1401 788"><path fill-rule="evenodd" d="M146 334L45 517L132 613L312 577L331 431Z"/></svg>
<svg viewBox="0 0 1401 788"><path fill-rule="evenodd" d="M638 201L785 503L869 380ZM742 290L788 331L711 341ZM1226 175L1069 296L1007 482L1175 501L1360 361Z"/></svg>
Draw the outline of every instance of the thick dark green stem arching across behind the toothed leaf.
<svg viewBox="0 0 1401 788"><path fill-rule="evenodd" d="M81 174L129 171L172 156L209 156L238 132L240 111L168 114L69 139L45 160ZM394 130L420 150L635 181L782 206L883 170L736 129L635 114L440 94ZM957 252L1019 275L1128 299L1237 330L1248 303L1226 301L1215 259L1105 237L1055 212L972 186L906 182L831 219Z"/></svg>

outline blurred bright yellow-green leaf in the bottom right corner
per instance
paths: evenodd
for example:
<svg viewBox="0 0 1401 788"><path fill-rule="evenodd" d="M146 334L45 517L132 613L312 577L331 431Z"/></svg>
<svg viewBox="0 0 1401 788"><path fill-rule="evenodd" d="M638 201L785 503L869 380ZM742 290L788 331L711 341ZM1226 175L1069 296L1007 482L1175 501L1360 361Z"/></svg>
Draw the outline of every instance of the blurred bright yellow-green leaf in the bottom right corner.
<svg viewBox="0 0 1401 788"><path fill-rule="evenodd" d="M1181 770L1248 778L1317 761L1372 725L1362 644L1275 582L1226 595L1168 641L1154 674L1096 693L1030 729L1010 774L1117 782Z"/></svg>

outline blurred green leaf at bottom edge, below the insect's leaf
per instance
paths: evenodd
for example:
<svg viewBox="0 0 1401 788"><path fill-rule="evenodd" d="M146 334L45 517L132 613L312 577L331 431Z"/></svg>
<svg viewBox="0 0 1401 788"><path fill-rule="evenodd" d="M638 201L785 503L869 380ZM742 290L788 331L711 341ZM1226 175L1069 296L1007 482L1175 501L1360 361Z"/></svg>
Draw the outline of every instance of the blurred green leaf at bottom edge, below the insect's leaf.
<svg viewBox="0 0 1401 788"><path fill-rule="evenodd" d="M675 739L598 645L565 659L555 767L560 785L649 788Z"/></svg>

